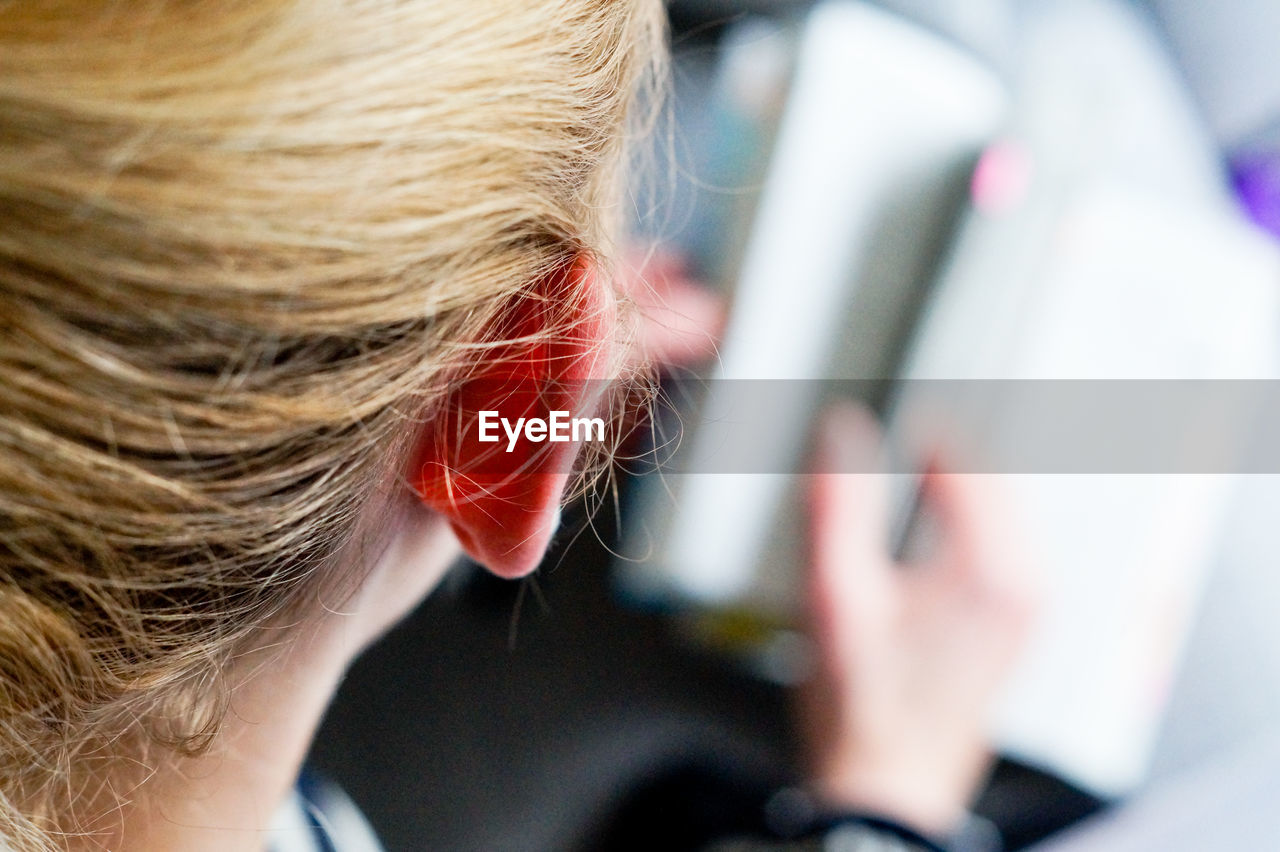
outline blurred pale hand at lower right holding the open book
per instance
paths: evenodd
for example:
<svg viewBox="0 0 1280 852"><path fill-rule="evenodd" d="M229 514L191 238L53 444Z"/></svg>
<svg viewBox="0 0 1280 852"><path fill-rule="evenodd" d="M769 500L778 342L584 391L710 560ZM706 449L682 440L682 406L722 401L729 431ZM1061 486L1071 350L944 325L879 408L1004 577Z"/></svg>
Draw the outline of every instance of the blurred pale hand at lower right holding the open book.
<svg viewBox="0 0 1280 852"><path fill-rule="evenodd" d="M878 443L851 406L824 421L819 469L859 469ZM886 477L812 477L808 601L815 674L800 693L815 791L829 806L946 835L991 756L991 701L1024 643L1036 596L1010 544L996 477L933 472L925 505L937 542L895 564Z"/></svg>

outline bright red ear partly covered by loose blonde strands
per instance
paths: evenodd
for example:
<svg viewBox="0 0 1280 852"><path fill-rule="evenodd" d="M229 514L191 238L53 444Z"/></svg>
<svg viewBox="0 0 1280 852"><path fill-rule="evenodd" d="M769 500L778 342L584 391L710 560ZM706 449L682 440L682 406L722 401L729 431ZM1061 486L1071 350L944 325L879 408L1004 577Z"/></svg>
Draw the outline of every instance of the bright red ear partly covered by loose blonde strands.
<svg viewBox="0 0 1280 852"><path fill-rule="evenodd" d="M472 559L508 578L541 562L581 446L531 440L536 430L512 426L582 414L616 322L612 297L585 260L540 290L513 298L490 335L499 343L428 423L415 463L422 501L449 521Z"/></svg>

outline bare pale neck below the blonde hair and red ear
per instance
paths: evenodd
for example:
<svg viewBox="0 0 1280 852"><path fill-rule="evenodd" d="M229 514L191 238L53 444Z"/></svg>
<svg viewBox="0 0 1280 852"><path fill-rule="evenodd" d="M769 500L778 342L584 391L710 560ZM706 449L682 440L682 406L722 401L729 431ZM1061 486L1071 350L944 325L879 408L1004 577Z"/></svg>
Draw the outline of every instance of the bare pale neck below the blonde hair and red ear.
<svg viewBox="0 0 1280 852"><path fill-rule="evenodd" d="M457 558L457 541L419 507L392 507L381 518L390 535L356 594L237 660L211 748L155 768L114 828L76 852L261 852L346 668Z"/></svg>

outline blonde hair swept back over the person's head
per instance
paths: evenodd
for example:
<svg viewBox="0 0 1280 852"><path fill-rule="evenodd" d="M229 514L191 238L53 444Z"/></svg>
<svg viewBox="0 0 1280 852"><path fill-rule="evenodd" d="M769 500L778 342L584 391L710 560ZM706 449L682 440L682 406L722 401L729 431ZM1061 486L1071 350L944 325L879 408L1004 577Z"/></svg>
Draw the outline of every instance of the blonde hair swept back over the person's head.
<svg viewBox="0 0 1280 852"><path fill-rule="evenodd" d="M0 1L0 838L198 752L513 297L609 267L658 0Z"/></svg>

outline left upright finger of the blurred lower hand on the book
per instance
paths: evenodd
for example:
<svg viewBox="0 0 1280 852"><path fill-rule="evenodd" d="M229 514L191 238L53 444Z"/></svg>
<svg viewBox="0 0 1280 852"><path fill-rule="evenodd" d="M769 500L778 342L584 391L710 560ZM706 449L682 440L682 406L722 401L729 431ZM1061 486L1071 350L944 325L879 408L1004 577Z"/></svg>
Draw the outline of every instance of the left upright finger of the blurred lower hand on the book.
<svg viewBox="0 0 1280 852"><path fill-rule="evenodd" d="M855 641L855 632L890 596L886 537L887 482L872 469L879 429L864 409L842 404L818 427L809 477L810 568L808 603L814 640L824 654Z"/></svg>

